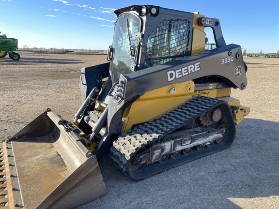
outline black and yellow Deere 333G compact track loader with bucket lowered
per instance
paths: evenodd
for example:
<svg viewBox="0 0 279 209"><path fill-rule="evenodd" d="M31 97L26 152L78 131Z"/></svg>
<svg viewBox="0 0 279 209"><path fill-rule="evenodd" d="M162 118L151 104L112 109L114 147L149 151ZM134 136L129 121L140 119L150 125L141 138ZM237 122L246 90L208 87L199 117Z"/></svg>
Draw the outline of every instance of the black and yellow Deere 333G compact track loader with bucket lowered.
<svg viewBox="0 0 279 209"><path fill-rule="evenodd" d="M249 107L239 45L216 18L158 6L115 11L108 63L82 68L73 122L51 109L1 145L3 208L73 208L104 194L106 153L135 180L228 148ZM204 50L204 28L217 48Z"/></svg>

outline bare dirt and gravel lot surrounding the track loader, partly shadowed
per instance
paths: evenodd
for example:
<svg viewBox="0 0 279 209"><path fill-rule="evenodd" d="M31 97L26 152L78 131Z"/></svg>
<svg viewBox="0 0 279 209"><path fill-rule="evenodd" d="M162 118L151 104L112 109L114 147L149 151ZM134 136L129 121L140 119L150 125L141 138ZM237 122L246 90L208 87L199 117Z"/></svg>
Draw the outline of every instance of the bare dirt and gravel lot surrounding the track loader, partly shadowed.
<svg viewBox="0 0 279 209"><path fill-rule="evenodd" d="M20 52L0 59L0 141L9 139L48 107L72 120L79 106L79 71L106 62L103 55ZM251 113L226 150L133 181L111 162L99 165L107 193L78 209L278 209L279 59L245 58L248 86L232 96Z"/></svg>

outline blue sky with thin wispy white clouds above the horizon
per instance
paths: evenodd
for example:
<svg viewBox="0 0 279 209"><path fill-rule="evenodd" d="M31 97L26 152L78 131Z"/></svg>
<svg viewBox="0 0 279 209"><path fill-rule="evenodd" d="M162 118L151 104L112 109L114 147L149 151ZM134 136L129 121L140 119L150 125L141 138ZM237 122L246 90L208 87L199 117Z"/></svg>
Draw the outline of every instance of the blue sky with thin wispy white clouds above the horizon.
<svg viewBox="0 0 279 209"><path fill-rule="evenodd" d="M219 19L226 44L248 53L279 50L279 0L0 0L0 31L18 47L108 50L113 11L133 4L200 12Z"/></svg>

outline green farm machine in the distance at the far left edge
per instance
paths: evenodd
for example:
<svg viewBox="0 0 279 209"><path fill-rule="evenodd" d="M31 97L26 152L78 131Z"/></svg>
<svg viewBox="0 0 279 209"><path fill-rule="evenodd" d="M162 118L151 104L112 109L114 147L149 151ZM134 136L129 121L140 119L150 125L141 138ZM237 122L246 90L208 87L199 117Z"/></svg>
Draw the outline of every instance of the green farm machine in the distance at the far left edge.
<svg viewBox="0 0 279 209"><path fill-rule="evenodd" d="M6 34L0 34L0 58L4 58L9 54L12 60L19 60L20 55L14 52L16 49L17 39L7 38Z"/></svg>

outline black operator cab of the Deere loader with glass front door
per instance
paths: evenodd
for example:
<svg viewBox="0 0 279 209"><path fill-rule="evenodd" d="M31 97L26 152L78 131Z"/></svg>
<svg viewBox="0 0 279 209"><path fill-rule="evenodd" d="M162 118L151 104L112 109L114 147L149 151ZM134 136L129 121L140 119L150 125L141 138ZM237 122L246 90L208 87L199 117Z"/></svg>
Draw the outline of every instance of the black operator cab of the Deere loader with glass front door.
<svg viewBox="0 0 279 209"><path fill-rule="evenodd" d="M114 13L117 21L108 53L112 83L121 74L191 55L193 13L151 5L132 5Z"/></svg>

